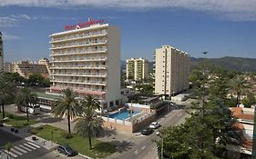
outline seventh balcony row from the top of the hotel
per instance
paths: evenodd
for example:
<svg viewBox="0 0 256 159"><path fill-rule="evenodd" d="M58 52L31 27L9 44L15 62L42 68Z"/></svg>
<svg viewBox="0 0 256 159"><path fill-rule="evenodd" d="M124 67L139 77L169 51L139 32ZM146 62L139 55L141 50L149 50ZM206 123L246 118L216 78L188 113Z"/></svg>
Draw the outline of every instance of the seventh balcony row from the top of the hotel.
<svg viewBox="0 0 256 159"><path fill-rule="evenodd" d="M56 79L51 80L53 83L61 83L61 84L87 84L87 85L103 85L107 84L106 81L85 81L85 80L67 80L67 79Z"/></svg>

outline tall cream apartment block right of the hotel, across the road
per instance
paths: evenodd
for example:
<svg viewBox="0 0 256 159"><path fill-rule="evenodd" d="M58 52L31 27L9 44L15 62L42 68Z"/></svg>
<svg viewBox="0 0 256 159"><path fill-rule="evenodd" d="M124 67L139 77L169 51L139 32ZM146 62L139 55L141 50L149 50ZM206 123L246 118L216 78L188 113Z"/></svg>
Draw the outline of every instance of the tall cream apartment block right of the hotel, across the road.
<svg viewBox="0 0 256 159"><path fill-rule="evenodd" d="M189 88L189 55L170 45L155 51L155 93L172 95Z"/></svg>

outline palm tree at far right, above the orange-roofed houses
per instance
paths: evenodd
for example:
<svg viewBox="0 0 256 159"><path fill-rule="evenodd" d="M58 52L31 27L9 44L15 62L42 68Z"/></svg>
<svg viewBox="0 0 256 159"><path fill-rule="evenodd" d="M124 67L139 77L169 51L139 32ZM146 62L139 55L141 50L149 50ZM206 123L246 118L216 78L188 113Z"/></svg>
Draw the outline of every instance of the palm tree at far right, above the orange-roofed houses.
<svg viewBox="0 0 256 159"><path fill-rule="evenodd" d="M235 78L230 80L230 87L237 95L236 106L238 107L241 101L241 94L249 87L249 84L242 75L237 75Z"/></svg>

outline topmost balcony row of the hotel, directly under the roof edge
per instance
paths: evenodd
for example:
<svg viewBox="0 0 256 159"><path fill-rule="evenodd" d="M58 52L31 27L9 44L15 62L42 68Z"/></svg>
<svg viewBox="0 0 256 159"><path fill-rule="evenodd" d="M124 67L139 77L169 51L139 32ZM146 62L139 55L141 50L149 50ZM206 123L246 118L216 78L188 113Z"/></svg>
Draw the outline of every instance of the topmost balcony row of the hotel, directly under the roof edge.
<svg viewBox="0 0 256 159"><path fill-rule="evenodd" d="M50 43L59 43L59 42L64 42L64 41L72 41L72 40L79 40L79 39L84 39L84 38L91 38L91 37L97 37L97 36L105 36L107 35L107 32L97 32L97 33L83 33L79 35L69 35L66 37L54 37L53 41Z"/></svg>

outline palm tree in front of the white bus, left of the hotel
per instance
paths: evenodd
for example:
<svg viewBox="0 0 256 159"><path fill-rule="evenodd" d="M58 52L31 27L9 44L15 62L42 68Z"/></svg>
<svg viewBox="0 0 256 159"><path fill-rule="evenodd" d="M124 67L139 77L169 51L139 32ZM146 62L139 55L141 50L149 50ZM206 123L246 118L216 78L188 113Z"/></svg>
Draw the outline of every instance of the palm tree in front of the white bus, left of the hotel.
<svg viewBox="0 0 256 159"><path fill-rule="evenodd" d="M26 121L29 122L28 118L28 104L36 104L37 94L31 92L27 87L24 87L19 94L15 97L15 103L17 105L26 105Z"/></svg>

